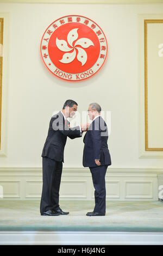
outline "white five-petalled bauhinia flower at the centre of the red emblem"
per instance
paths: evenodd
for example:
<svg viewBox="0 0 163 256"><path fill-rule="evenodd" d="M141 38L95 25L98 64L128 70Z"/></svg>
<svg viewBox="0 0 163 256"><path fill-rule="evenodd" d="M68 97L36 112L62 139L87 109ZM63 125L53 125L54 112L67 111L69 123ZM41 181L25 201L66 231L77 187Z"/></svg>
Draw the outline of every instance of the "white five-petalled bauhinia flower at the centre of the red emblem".
<svg viewBox="0 0 163 256"><path fill-rule="evenodd" d="M91 45L94 46L94 44L88 38L80 38L80 39L78 39L77 31L78 31L78 28L74 28L67 35L67 41L68 41L68 44L71 47L68 47L67 42L65 40L60 40L58 38L56 39L56 45L57 45L57 47L59 48L60 51L62 51L62 52L70 52L70 51L72 51L74 49L73 52L65 53L62 56L62 59L59 60L61 63L71 63L76 58L77 51L78 51L77 59L79 60L79 62L82 63L82 66L86 63L86 61L87 61L87 54L86 54L86 51L83 48L88 48ZM73 46L73 42L75 40L77 40L77 41L75 42L75 44ZM83 48L77 47L78 45L83 47Z"/></svg>

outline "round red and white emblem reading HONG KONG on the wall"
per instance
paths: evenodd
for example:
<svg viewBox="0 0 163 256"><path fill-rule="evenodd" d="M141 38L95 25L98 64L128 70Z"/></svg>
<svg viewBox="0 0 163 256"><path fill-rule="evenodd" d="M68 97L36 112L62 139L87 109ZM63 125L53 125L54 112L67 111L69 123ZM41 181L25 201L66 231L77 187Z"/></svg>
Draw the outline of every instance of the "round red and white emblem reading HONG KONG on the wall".
<svg viewBox="0 0 163 256"><path fill-rule="evenodd" d="M41 40L41 56L48 70L67 81L81 81L95 75L104 64L107 52L102 29L79 15L54 21Z"/></svg>

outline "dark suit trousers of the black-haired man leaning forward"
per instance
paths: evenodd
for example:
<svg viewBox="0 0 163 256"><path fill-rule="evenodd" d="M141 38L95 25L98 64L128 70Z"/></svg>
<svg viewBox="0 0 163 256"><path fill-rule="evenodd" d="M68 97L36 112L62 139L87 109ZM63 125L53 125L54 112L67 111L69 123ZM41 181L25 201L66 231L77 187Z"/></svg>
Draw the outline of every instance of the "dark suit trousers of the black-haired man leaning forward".
<svg viewBox="0 0 163 256"><path fill-rule="evenodd" d="M42 157L42 195L40 213L56 210L59 207L59 188L62 174L62 162Z"/></svg>

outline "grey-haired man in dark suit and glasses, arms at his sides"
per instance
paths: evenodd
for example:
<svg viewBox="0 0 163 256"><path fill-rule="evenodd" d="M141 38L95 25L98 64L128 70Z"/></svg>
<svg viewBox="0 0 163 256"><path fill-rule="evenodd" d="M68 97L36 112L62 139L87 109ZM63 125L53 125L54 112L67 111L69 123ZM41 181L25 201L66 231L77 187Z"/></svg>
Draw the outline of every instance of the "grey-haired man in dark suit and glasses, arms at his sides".
<svg viewBox="0 0 163 256"><path fill-rule="evenodd" d="M108 128L100 115L101 106L91 103L88 109L92 120L89 130L84 136L83 166L89 167L95 188L95 208L87 212L87 216L104 216L106 210L105 174L111 165L108 149Z"/></svg>

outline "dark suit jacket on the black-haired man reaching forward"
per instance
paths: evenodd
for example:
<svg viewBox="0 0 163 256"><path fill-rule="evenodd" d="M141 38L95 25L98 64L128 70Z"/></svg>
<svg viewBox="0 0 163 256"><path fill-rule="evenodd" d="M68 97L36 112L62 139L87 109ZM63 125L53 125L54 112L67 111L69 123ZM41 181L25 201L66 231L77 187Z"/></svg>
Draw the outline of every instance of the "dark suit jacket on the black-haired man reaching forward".
<svg viewBox="0 0 163 256"><path fill-rule="evenodd" d="M68 120L66 120L65 124L65 119L61 111L53 115L49 123L48 135L43 146L42 157L46 156L49 159L64 162L64 148L67 137L71 139L82 137L79 126L69 128L68 124Z"/></svg>

